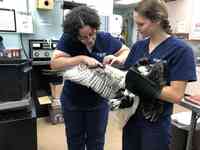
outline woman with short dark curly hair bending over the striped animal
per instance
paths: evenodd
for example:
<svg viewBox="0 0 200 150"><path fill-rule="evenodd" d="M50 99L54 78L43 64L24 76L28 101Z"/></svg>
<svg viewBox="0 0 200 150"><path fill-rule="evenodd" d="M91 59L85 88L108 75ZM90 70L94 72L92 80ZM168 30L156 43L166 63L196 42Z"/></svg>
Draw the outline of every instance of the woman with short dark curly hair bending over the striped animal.
<svg viewBox="0 0 200 150"><path fill-rule="evenodd" d="M99 32L100 20L94 9L74 8L66 15L64 33L51 61L53 69L79 64L88 67L123 63L129 49L109 33ZM69 80L61 94L69 150L103 150L109 107L90 88Z"/></svg>

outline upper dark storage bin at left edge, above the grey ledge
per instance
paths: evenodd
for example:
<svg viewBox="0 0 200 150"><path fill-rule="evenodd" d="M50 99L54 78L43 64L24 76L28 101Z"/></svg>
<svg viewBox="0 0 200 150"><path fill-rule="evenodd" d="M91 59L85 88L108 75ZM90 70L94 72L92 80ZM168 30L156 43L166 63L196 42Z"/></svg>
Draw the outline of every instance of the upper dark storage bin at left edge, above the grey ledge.
<svg viewBox="0 0 200 150"><path fill-rule="evenodd" d="M21 100L29 91L28 60L0 59L0 102Z"/></svg>

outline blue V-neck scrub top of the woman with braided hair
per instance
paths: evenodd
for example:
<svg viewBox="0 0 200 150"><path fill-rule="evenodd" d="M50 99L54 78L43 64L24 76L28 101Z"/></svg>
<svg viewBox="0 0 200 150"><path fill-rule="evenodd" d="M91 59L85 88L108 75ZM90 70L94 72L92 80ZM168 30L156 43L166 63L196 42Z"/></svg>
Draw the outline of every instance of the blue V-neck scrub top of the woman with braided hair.
<svg viewBox="0 0 200 150"><path fill-rule="evenodd" d="M129 68L136 64L142 57L147 57L150 63L156 59L162 59L167 62L168 75L167 81L195 81L196 69L195 59L191 47L182 40L171 36L160 43L152 53L149 53L150 39L144 39L136 42L125 62L125 67ZM171 115L172 103L164 102L163 116Z"/></svg>

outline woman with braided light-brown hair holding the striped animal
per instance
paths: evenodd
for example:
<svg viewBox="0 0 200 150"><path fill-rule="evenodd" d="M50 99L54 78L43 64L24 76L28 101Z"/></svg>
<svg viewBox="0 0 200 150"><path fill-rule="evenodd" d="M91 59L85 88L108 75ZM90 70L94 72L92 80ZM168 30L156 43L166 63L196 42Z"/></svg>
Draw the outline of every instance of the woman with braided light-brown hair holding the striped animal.
<svg viewBox="0 0 200 150"><path fill-rule="evenodd" d="M173 103L184 97L187 82L196 80L193 51L172 36L164 1L139 2L134 8L134 21L144 39L133 45L125 66L141 63L144 58L151 64L163 60L167 66L167 84L153 98L146 97L141 86L137 86L140 83L132 85L140 91L141 101L123 128L123 150L169 150Z"/></svg>

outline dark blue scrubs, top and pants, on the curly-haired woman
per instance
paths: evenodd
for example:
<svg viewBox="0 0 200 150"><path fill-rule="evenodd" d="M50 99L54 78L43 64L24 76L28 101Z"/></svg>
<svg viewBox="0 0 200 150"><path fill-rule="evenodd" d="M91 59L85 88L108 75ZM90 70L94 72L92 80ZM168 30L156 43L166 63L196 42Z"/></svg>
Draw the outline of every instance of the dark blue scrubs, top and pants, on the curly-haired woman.
<svg viewBox="0 0 200 150"><path fill-rule="evenodd" d="M87 55L100 62L121 47L119 40L105 32L97 33L92 52L67 33L57 45L58 50L71 56ZM106 100L87 87L65 81L61 103L69 150L85 150L85 147L87 150L103 150L109 111Z"/></svg>

